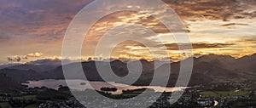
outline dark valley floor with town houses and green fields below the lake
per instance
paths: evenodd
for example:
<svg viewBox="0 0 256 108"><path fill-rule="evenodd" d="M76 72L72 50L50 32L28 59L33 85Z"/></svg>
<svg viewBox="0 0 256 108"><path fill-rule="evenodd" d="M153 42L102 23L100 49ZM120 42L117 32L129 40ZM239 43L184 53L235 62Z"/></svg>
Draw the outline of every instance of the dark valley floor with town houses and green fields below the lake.
<svg viewBox="0 0 256 108"><path fill-rule="evenodd" d="M164 92L159 99L154 99L154 95L142 99L148 101L148 108L179 108L179 107L248 107L256 106L256 90L253 88L253 82L212 82L209 85L199 85L183 89L181 98L174 104L170 104L174 99L171 92ZM130 102L129 99L136 98L138 94L143 93L146 88L123 90L122 94L111 94L116 88L102 87L99 94L109 99L127 99L123 103L124 107L139 106L142 103ZM154 92L153 89L149 90ZM181 92L181 91L177 91ZM94 95L85 95L87 99L96 99ZM150 99L151 98L151 99ZM149 101L150 100L150 101ZM106 100L104 107L108 108ZM151 103L151 105L150 105ZM69 88L60 86L58 90L51 88L24 88L20 91L9 91L0 94L0 106L2 108L11 107L38 107L38 108L85 108L86 101L78 101L73 97ZM113 105L109 105L109 108Z"/></svg>

